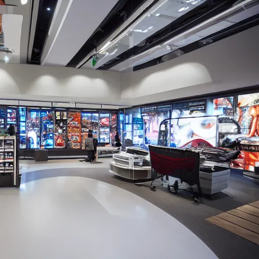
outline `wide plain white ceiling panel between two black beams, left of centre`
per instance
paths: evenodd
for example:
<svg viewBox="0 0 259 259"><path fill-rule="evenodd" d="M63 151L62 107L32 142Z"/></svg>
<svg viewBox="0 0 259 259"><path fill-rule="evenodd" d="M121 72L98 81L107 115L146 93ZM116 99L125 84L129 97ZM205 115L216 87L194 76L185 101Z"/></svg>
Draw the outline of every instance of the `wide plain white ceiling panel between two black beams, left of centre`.
<svg viewBox="0 0 259 259"><path fill-rule="evenodd" d="M70 0L44 65L66 66L117 2Z"/></svg>

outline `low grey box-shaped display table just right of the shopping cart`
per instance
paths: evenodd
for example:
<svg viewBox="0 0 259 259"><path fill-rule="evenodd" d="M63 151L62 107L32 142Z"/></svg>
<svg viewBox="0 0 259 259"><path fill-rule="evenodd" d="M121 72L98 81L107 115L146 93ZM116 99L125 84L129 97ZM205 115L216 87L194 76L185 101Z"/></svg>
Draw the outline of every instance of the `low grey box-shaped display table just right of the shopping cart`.
<svg viewBox="0 0 259 259"><path fill-rule="evenodd" d="M213 172L200 171L200 186L203 194L211 195L228 188L230 170L219 170Z"/></svg>

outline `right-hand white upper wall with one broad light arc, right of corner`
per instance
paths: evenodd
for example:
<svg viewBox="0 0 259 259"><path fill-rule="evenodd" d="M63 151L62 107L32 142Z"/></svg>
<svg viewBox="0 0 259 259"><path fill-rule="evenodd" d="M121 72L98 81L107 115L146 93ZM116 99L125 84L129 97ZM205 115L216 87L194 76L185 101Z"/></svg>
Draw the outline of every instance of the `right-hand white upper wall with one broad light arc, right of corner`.
<svg viewBox="0 0 259 259"><path fill-rule="evenodd" d="M259 84L259 26L157 66L121 75L123 105L167 101Z"/></svg>

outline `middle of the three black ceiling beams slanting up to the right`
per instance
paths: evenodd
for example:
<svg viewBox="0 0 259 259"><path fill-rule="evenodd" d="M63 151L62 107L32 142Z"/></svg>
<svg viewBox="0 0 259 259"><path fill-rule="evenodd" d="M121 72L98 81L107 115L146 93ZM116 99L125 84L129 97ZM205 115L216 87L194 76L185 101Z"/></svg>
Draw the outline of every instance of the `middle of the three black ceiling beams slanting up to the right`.
<svg viewBox="0 0 259 259"><path fill-rule="evenodd" d="M116 58L110 60L109 62L103 64L98 69L108 70L120 62L123 62L135 55L141 54L148 51L152 47L162 44L163 42L169 40L172 37L177 36L180 33L218 15L227 9L231 8L236 0L214 0L207 1L181 16L177 20L171 22L169 25L165 26L163 29L157 31L147 39L143 40L137 46L123 52Z"/></svg>

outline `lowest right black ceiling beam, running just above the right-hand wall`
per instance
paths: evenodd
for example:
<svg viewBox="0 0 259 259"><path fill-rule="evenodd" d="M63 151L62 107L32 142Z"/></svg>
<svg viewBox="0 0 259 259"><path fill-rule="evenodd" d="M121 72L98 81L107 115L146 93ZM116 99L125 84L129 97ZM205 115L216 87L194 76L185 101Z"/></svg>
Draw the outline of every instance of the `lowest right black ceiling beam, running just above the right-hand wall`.
<svg viewBox="0 0 259 259"><path fill-rule="evenodd" d="M213 44L214 42L217 42L219 40L222 40L224 38L230 37L232 35L235 35L239 32L242 32L244 30L250 29L254 26L259 25L259 14L256 14L252 17L249 17L239 23L233 24L225 29L222 29L220 31L217 31L207 37L204 37L200 40L197 40L187 46L184 46L182 48L179 48L179 50L183 51L184 54L193 52L195 50L198 50L202 47L205 47L207 45ZM175 51L173 51L175 52ZM171 52L172 53L172 52ZM133 71L138 71L147 67L155 66L157 64L163 63L162 58L169 55L170 53L163 55L161 57L158 57L156 59L152 59L148 62L145 62L143 64L137 65L133 67ZM168 59L170 60L170 59Z"/></svg>

